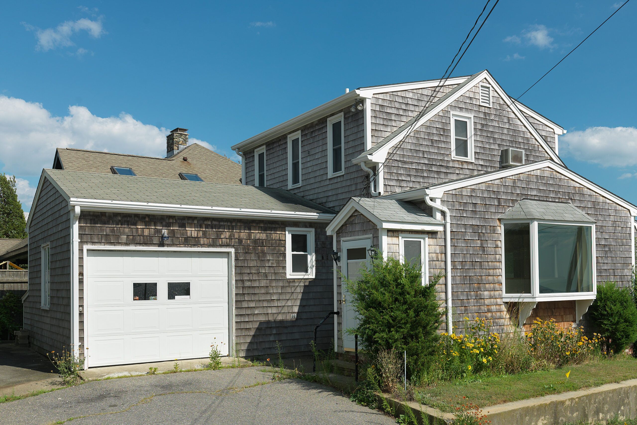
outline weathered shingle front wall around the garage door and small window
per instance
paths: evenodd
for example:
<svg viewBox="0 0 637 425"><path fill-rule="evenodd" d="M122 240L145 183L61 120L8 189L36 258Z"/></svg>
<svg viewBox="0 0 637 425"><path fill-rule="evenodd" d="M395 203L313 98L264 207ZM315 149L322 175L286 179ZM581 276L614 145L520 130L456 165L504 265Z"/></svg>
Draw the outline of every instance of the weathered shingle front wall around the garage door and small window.
<svg viewBox="0 0 637 425"><path fill-rule="evenodd" d="M332 241L322 224L100 212L82 212L79 223L80 271L84 245L234 248L238 356L275 354L276 340L285 354L308 352L314 326L333 308ZM316 278L285 277L285 227L315 229ZM162 229L171 237L159 245ZM290 319L296 312L297 318ZM333 332L331 324L321 326L320 349L329 348ZM80 313L82 343L83 337Z"/></svg>

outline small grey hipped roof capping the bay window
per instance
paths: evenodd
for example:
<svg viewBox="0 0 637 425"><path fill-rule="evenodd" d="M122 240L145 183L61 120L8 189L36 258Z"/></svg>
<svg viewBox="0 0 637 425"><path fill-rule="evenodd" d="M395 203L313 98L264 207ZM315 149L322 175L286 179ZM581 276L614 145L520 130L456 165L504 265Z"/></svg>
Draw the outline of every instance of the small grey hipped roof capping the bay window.
<svg viewBox="0 0 637 425"><path fill-rule="evenodd" d="M522 199L507 212L500 215L499 219L595 222L595 220L575 208L571 203L535 201L533 199Z"/></svg>

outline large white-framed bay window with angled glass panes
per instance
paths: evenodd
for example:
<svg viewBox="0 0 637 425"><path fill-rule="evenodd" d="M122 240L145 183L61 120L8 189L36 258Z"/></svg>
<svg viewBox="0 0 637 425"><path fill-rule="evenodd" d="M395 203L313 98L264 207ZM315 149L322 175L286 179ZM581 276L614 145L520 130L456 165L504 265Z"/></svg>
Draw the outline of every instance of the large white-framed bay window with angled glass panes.
<svg viewBox="0 0 637 425"><path fill-rule="evenodd" d="M503 220L503 299L588 299L595 293L595 226Z"/></svg>

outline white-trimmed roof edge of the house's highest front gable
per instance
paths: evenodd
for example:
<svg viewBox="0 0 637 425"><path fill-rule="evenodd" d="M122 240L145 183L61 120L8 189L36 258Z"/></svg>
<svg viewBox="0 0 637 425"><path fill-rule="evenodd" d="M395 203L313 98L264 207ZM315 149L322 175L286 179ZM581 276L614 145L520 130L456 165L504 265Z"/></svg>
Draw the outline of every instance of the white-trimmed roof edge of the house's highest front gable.
<svg viewBox="0 0 637 425"><path fill-rule="evenodd" d="M372 148L363 152L361 155L352 160L352 162L385 162L385 158L387 157L387 154L392 147L396 146L397 143L408 136L413 130L422 126L422 124L434 117L434 115L440 113L441 110L446 108L450 103L455 101L458 97L462 96L462 94L466 93L469 89L471 89L471 87L473 87L483 79L487 80L492 88L496 90L499 96L503 99L503 101L505 101L507 106L515 114L515 116L522 122L522 125L527 128L533 138L538 141L541 147L546 150L547 154L555 162L559 162L559 164L563 165L564 162L562 162L560 157L555 154L555 151L548 145L547 141L544 140L540 133L538 133L538 130L533 127L531 122L529 122L529 120L524 116L524 113L522 113L517 107L513 99L511 99L511 97L506 94L505 90L500 87L500 85L496 82L496 80L487 69L467 78L467 80L465 80L463 83L457 85L457 87L454 87L454 89L450 90L450 92L445 94L445 96L441 97L440 99L429 105L425 110L415 115L415 117L405 122L401 127L396 129L396 131L386 136L382 141L376 143L376 145L374 145Z"/></svg>

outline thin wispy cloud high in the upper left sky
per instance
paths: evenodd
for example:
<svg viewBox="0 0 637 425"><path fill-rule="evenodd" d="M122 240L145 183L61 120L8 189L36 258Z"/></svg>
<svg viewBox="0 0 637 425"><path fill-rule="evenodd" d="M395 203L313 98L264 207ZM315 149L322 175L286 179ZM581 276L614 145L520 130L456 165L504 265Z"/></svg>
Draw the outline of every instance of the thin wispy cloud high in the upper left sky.
<svg viewBox="0 0 637 425"><path fill-rule="evenodd" d="M24 25L27 31L35 32L36 40L38 40L36 49L42 50L43 52L60 47L75 46L75 43L71 40L71 36L76 32L86 31L92 38L100 38L103 34L106 34L101 18L97 20L90 20L88 18L68 20L57 25L55 28L47 29L34 27L25 22L22 22L22 25Z"/></svg>

